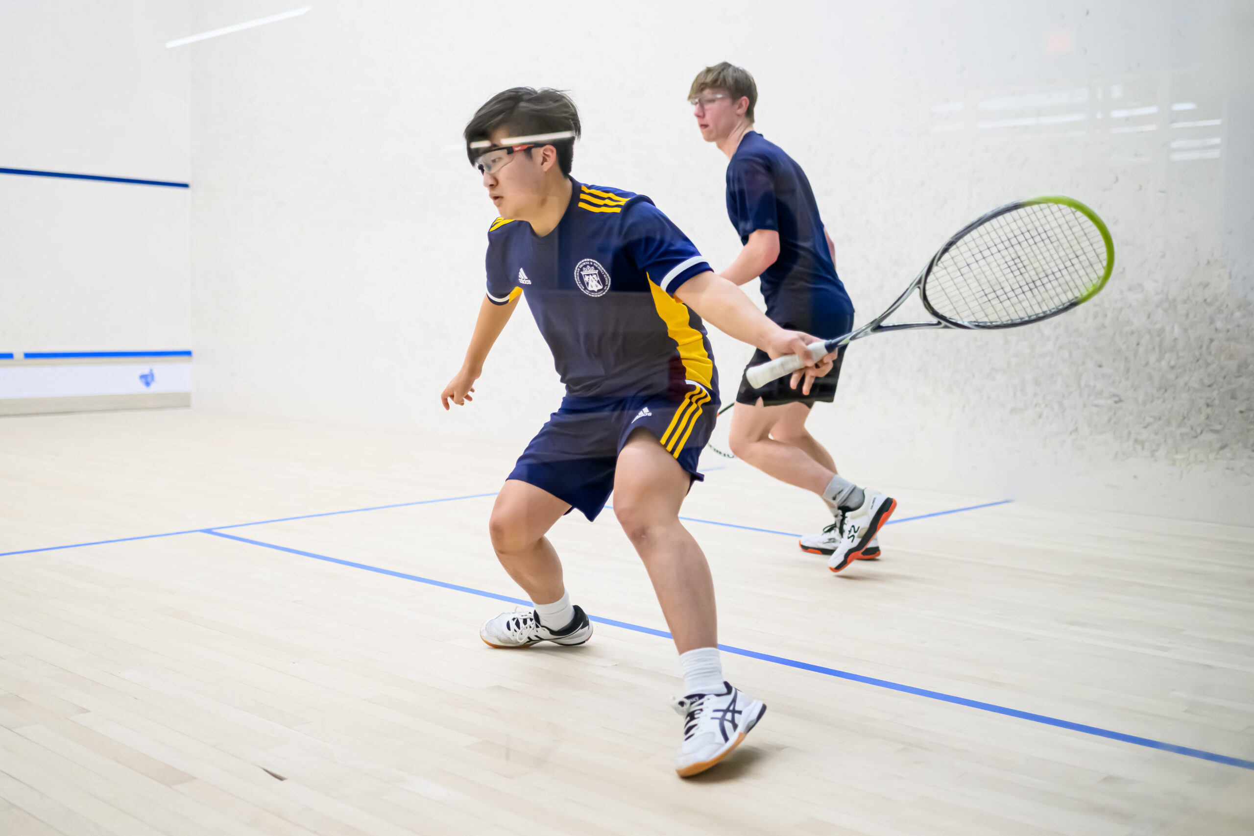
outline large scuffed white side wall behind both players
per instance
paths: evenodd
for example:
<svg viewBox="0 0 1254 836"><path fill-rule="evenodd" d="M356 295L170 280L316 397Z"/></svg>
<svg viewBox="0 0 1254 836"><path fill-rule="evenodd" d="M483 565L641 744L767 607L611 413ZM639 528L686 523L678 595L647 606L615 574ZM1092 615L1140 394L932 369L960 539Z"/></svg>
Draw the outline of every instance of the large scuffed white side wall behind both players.
<svg viewBox="0 0 1254 836"><path fill-rule="evenodd" d="M290 6L193 3L192 29ZM574 174L650 195L717 267L739 246L725 159L685 95L727 59L809 173L859 320L1014 198L1075 196L1115 237L1109 289L1066 316L850 349L813 424L844 472L1249 522L1249 4L764 10L329 0L193 45L196 405L522 444L561 395L522 310L474 404L438 404L494 216L461 127L505 87L571 90ZM729 398L749 349L717 335L716 353Z"/></svg>

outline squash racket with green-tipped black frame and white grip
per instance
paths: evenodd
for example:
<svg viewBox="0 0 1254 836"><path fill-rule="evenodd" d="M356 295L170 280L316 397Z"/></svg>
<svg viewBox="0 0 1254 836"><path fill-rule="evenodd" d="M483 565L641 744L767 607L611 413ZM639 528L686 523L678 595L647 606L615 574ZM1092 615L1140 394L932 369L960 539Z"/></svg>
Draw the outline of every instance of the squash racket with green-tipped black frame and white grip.
<svg viewBox="0 0 1254 836"><path fill-rule="evenodd" d="M1097 295L1115 266L1115 245L1097 213L1070 197L1008 203L946 241L928 266L883 314L858 330L810 346L819 362L856 339L908 328L981 330L1040 323ZM919 291L935 321L884 323ZM801 368L795 354L755 365L760 388Z"/></svg>

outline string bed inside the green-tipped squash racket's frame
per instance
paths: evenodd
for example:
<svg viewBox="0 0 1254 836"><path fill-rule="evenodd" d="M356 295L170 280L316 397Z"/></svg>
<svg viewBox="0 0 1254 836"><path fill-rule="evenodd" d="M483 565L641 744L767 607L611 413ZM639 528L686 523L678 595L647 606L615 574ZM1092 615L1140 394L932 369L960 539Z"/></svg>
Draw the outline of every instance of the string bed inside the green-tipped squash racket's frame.
<svg viewBox="0 0 1254 836"><path fill-rule="evenodd" d="M1101 232L1083 213L1058 203L1022 206L959 238L933 266L925 294L947 319L1013 325L1078 303L1106 260Z"/></svg>

